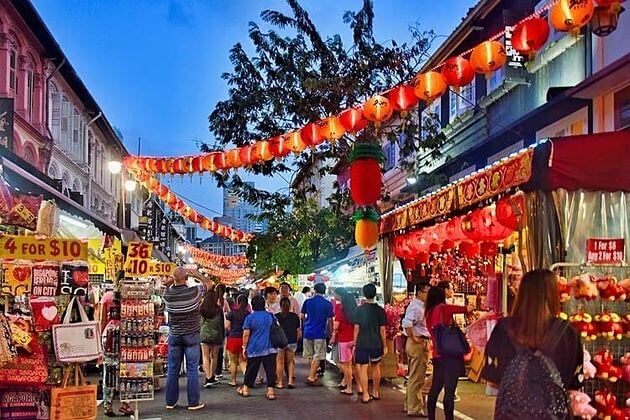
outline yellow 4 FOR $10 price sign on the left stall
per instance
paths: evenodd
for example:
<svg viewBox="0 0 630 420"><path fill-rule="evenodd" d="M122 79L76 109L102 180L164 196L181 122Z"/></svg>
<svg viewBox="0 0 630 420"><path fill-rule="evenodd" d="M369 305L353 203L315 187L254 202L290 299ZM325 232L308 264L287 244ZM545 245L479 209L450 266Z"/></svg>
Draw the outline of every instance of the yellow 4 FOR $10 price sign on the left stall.
<svg viewBox="0 0 630 420"><path fill-rule="evenodd" d="M87 243L76 239L0 235L0 258L33 261L87 261Z"/></svg>

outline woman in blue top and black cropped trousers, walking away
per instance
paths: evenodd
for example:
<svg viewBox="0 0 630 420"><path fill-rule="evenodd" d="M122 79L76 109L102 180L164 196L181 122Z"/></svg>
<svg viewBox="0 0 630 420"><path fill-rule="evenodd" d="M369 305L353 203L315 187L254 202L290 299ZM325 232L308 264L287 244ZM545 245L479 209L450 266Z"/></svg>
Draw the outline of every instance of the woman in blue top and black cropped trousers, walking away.
<svg viewBox="0 0 630 420"><path fill-rule="evenodd" d="M243 356L247 358L245 380L237 393L242 397L249 397L249 391L254 387L256 375L260 365L267 375L267 399L275 400L276 394L276 349L271 344L271 324L275 316L265 310L265 299L262 296L252 298L251 314L245 318L243 324Z"/></svg>

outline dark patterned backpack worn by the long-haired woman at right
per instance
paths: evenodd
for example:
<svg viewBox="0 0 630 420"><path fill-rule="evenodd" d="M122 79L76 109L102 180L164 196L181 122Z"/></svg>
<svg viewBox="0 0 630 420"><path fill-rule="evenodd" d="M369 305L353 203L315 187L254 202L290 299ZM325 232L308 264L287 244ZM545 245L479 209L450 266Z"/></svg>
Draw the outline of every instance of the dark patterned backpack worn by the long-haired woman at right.
<svg viewBox="0 0 630 420"><path fill-rule="evenodd" d="M568 325L566 321L554 322L536 351L512 341L517 355L501 379L495 420L571 418L569 396L558 367L545 355L555 350Z"/></svg>

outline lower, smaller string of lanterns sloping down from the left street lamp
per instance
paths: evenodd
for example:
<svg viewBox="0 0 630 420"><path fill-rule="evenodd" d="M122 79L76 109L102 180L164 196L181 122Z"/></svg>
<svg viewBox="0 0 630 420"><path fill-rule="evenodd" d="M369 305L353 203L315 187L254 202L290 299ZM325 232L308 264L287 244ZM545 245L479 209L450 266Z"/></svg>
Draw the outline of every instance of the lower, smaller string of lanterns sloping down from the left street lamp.
<svg viewBox="0 0 630 420"><path fill-rule="evenodd" d="M171 210L181 215L184 219L195 223L202 229L234 242L246 243L252 240L253 236L251 234L214 222L200 214L173 193L166 185L162 184L150 174L140 170L132 171L131 173L142 186L166 203Z"/></svg>

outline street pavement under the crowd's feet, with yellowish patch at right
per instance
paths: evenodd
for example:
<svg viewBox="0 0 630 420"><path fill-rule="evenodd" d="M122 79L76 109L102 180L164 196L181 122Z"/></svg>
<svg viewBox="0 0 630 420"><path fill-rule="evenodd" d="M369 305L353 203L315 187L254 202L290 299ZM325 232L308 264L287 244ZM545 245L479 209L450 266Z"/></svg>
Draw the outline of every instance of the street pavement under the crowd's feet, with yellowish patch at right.
<svg viewBox="0 0 630 420"><path fill-rule="evenodd" d="M235 388L228 386L227 379L210 389L201 389L201 401L205 408L190 412L186 409L186 378L180 378L180 407L166 411L164 407L164 391L158 391L155 400L142 402L140 407L140 419L404 419L403 412L404 393L395 384L383 381L381 384L381 400L362 404L357 395L345 396L339 393L336 385L339 375L334 367L327 368L323 378L323 387L315 388L304 384L307 375L307 362L297 359L296 388L276 390L277 399L268 401L265 398L266 388L261 386L251 391L249 398L243 398L236 394ZM165 386L165 378L161 379L162 388ZM239 376L239 382L241 377ZM200 383L201 383L200 378ZM483 388L477 384L460 384L462 402L456 404L461 419L490 419L491 409L487 404L488 397L483 396ZM370 388L371 389L371 388ZM482 395L478 395L481 393ZM470 406L470 410L466 407ZM490 406L491 407L491 406ZM118 403L114 403L118 409ZM103 415L102 407L99 407L98 419L107 419ZM438 418L444 418L439 411Z"/></svg>

